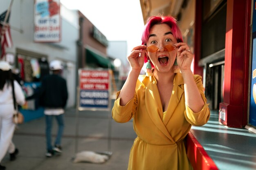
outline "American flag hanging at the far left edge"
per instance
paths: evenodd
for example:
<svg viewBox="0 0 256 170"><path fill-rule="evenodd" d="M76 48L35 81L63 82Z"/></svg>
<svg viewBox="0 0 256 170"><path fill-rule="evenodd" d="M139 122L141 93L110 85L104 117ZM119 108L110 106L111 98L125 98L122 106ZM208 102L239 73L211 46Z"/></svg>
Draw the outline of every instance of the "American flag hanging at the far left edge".
<svg viewBox="0 0 256 170"><path fill-rule="evenodd" d="M0 58L2 58L5 55L5 48L12 47L12 40L11 40L11 32L10 32L10 26L9 26L9 16L6 20L6 23L4 23L4 18L7 14L7 11L4 11L0 15Z"/></svg>

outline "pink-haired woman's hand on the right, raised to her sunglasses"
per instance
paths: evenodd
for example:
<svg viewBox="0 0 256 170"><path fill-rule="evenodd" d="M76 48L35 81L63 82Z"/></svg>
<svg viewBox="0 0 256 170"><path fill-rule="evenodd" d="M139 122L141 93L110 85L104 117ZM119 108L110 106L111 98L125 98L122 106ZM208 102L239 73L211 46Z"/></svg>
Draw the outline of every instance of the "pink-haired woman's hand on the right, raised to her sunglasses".
<svg viewBox="0 0 256 170"><path fill-rule="evenodd" d="M180 71L191 71L193 53L191 52L189 46L184 42L179 42L174 45L178 48L177 64L180 68Z"/></svg>

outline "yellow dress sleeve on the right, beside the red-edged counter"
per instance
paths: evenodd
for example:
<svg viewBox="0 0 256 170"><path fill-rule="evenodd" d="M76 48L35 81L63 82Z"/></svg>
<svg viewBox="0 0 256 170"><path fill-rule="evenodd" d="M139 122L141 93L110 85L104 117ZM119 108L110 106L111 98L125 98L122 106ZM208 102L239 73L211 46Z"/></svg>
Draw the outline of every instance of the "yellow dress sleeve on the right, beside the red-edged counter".
<svg viewBox="0 0 256 170"><path fill-rule="evenodd" d="M194 113L189 106L186 105L186 110L184 112L186 120L194 126L202 126L207 123L207 121L210 118L210 109L209 104L207 104L207 99L204 95L204 87L202 84L202 77L200 75L194 75L195 83L198 86L198 90L202 96L202 99L204 100L204 106L202 107L202 110L198 113Z"/></svg>

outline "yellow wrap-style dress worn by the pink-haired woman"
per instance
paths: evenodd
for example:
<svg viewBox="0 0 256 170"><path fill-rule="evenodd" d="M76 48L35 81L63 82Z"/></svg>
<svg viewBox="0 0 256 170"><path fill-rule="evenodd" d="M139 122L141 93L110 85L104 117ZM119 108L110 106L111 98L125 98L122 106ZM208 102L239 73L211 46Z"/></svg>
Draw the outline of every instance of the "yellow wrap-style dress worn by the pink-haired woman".
<svg viewBox="0 0 256 170"><path fill-rule="evenodd" d="M120 106L120 98L112 108L115 121L124 123L133 118L133 128L137 134L128 163L128 170L191 170L186 156L185 137L191 125L202 126L209 117L210 110L204 96L202 77L194 75L195 82L204 100L199 113L185 105L184 81L177 73L163 119L162 104L155 77L139 75L135 95L125 105Z"/></svg>

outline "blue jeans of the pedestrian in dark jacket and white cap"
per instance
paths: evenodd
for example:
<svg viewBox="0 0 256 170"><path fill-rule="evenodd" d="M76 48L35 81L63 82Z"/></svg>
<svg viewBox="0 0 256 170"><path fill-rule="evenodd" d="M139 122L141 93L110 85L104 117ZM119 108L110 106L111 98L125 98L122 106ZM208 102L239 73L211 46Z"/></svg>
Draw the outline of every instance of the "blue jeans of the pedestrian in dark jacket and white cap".
<svg viewBox="0 0 256 170"><path fill-rule="evenodd" d="M55 140L55 145L61 145L61 137L64 130L64 114L61 115L45 115L46 124L46 146L47 150L52 150L52 118L55 117L58 123L58 133Z"/></svg>

